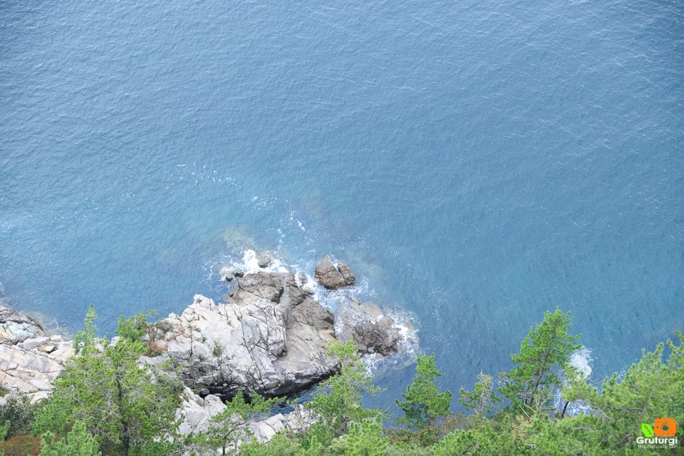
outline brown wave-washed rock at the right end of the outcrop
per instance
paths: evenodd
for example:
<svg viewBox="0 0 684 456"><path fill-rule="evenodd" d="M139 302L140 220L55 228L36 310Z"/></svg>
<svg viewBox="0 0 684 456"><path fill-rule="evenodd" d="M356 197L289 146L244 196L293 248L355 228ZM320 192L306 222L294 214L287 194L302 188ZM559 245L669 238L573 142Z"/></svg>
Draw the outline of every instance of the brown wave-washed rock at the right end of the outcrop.
<svg viewBox="0 0 684 456"><path fill-rule="evenodd" d="M359 353L387 356L397 351L401 341L399 328L373 302L344 303L338 313L336 337L342 343L353 339Z"/></svg>

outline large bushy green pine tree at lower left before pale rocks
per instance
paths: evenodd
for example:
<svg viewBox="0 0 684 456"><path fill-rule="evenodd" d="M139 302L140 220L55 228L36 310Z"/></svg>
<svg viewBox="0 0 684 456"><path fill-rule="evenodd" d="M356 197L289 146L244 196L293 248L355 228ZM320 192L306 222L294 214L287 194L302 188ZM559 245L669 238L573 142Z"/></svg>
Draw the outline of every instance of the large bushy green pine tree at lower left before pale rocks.
<svg viewBox="0 0 684 456"><path fill-rule="evenodd" d="M165 452L167 437L177 428L181 383L159 368L138 364L147 353L144 341L96 338L95 319L91 306L86 329L74 339L80 354L68 360L50 398L38 406L33 431L65 438L82 421L106 454Z"/></svg>

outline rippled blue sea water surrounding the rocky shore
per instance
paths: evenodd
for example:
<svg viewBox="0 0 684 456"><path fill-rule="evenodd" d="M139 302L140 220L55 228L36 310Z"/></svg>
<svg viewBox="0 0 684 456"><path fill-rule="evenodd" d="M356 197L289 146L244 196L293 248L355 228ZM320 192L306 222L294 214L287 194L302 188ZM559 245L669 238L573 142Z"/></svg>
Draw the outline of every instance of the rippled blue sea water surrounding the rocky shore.
<svg viewBox="0 0 684 456"><path fill-rule="evenodd" d="M600 379L684 329L683 24L679 1L3 1L0 283L111 331L221 299L226 240L333 253L452 391L556 306Z"/></svg>

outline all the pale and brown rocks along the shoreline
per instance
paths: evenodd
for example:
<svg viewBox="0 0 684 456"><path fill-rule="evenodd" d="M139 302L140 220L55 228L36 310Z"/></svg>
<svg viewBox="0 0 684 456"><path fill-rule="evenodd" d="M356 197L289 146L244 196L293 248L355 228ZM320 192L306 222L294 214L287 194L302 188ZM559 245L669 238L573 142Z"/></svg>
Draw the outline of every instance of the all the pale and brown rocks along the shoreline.
<svg viewBox="0 0 684 456"><path fill-rule="evenodd" d="M226 302L195 295L181 314L150 326L154 355L140 363L170 363L186 384L178 411L183 433L205 430L225 409L223 399L239 390L287 396L334 375L340 366L327 353L331 341L353 340L360 353L382 357L409 342L377 304L344 300L334 314L314 298L305 277L268 270L270 256L258 260L258 270L250 273L222 270L222 278L232 282ZM328 290L355 282L346 264L329 258L319 261L314 276ZM0 404L17 395L31 401L47 397L72 355L71 341L47 336L38 321L0 305L0 387L9 392ZM268 440L281 428L302 426L304 413L269 417L253 423L252 431Z"/></svg>

